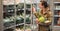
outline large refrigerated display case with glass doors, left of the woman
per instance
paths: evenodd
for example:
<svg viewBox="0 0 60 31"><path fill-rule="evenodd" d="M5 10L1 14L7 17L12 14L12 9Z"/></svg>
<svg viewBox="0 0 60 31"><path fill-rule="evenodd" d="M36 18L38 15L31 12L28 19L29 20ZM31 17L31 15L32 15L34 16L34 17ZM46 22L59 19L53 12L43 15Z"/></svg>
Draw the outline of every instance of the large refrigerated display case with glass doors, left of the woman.
<svg viewBox="0 0 60 31"><path fill-rule="evenodd" d="M2 4L3 31L37 31L37 24L35 24L32 12L32 7L33 5L37 7L37 2L32 0L3 0Z"/></svg>

